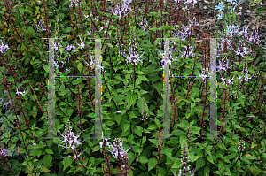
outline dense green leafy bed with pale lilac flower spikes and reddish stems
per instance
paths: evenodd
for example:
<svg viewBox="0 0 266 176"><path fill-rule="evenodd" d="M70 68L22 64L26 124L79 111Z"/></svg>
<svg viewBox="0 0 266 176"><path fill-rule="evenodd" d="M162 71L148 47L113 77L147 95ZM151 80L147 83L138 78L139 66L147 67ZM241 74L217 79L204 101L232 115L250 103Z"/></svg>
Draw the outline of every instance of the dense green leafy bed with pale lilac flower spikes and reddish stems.
<svg viewBox="0 0 266 176"><path fill-rule="evenodd" d="M123 2L3 0L0 173L266 174L266 69L258 34L238 28L216 34L223 37L217 40L219 139L205 139L210 40L203 38L210 36L193 13L186 18L177 1ZM191 12L193 4L188 4ZM239 23L234 13L224 16L226 24ZM88 139L95 134L91 38L96 37L101 38L102 140ZM168 60L170 75L179 76L170 81L170 134L176 139L164 139L166 60L160 38L174 37ZM42 138L48 132L49 38L60 38L54 39L54 72L61 76L54 88L55 130L61 140Z"/></svg>

